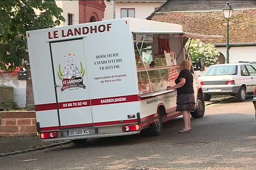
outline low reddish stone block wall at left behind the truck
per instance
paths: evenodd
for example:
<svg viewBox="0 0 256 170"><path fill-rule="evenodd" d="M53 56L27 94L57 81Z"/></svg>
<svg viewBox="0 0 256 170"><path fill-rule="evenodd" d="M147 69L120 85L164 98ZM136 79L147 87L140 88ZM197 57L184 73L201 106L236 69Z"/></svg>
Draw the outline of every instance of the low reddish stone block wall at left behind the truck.
<svg viewBox="0 0 256 170"><path fill-rule="evenodd" d="M0 119L0 136L32 136L37 133L34 111L0 112Z"/></svg>

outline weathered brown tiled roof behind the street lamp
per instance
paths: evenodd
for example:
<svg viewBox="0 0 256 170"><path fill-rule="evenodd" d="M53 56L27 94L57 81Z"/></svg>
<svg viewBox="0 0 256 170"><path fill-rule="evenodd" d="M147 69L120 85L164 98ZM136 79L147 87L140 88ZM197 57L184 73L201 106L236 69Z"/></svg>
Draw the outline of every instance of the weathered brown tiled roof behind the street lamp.
<svg viewBox="0 0 256 170"><path fill-rule="evenodd" d="M222 11L155 13L152 20L182 24L186 32L222 35L224 38L203 41L226 43L227 21ZM229 34L230 43L256 42L256 9L233 11Z"/></svg>

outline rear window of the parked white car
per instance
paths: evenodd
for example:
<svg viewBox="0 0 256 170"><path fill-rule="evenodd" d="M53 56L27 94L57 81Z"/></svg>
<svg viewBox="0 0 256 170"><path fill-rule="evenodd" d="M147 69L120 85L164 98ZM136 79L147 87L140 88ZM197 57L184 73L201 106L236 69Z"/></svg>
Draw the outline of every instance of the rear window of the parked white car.
<svg viewBox="0 0 256 170"><path fill-rule="evenodd" d="M209 67L205 76L237 75L237 65L220 65Z"/></svg>

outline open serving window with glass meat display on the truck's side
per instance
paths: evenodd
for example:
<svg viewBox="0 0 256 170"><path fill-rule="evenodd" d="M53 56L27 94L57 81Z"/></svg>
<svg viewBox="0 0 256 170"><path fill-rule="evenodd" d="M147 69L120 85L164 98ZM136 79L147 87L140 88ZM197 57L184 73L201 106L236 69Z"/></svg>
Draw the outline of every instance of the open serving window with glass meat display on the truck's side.
<svg viewBox="0 0 256 170"><path fill-rule="evenodd" d="M168 34L134 34L140 94L167 91L179 74L176 53Z"/></svg>

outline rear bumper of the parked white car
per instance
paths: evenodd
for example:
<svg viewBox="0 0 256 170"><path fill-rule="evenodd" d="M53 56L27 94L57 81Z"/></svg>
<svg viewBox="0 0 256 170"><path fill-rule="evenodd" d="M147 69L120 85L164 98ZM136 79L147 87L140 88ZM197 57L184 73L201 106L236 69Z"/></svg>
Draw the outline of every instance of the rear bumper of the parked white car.
<svg viewBox="0 0 256 170"><path fill-rule="evenodd" d="M234 85L202 85L203 93L207 94L237 94L239 89Z"/></svg>

